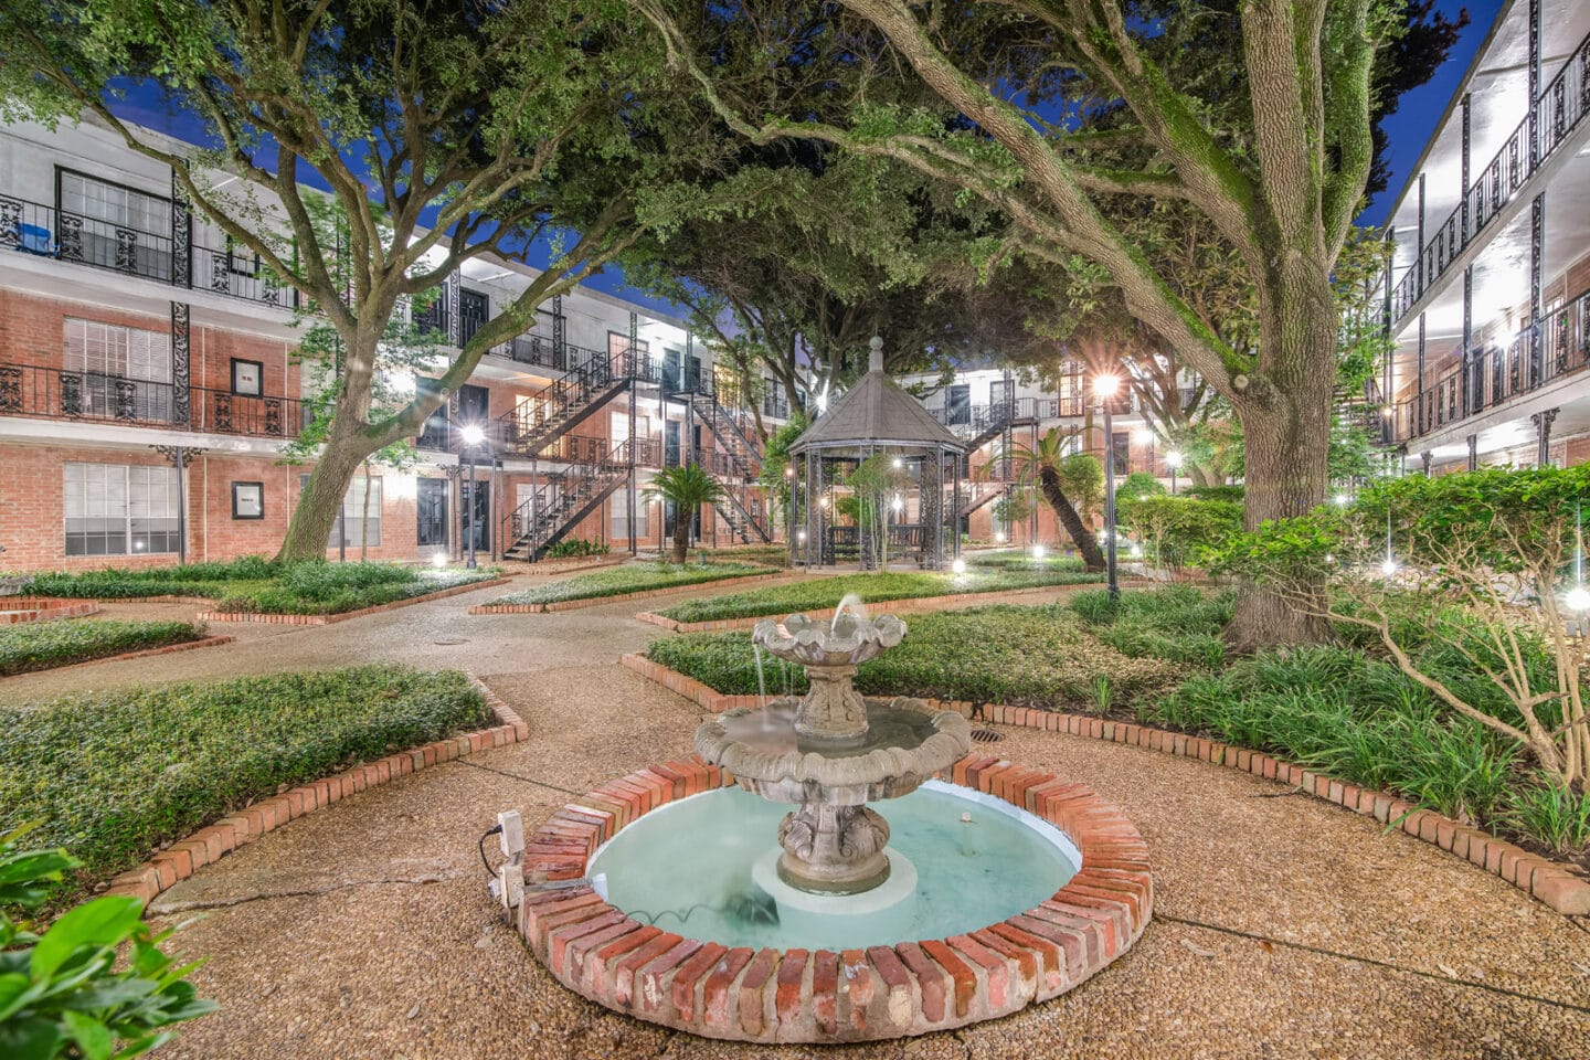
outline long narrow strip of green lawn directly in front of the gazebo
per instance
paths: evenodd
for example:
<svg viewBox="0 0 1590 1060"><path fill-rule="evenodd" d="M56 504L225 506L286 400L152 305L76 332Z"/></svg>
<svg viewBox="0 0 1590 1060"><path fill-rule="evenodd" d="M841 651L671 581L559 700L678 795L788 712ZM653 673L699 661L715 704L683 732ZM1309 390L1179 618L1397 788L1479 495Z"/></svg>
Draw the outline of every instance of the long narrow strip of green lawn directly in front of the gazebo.
<svg viewBox="0 0 1590 1060"><path fill-rule="evenodd" d="M1102 580L1102 574L1078 574L1072 571L841 574L832 578L798 582L795 585L770 585L731 596L708 596L706 599L684 601L660 613L674 621L719 621L722 618L828 610L847 593L855 593L867 604L881 604L884 601L917 599L922 596L1000 593L1045 585L1084 585Z"/></svg>

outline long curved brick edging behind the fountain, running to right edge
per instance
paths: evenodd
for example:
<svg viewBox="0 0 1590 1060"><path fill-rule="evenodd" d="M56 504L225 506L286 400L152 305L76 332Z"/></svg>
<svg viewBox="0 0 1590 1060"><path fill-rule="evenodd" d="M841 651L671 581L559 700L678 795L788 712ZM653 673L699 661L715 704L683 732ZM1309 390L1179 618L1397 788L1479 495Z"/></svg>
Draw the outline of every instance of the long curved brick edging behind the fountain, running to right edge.
<svg viewBox="0 0 1590 1060"><path fill-rule="evenodd" d="M706 710L720 712L733 707L755 707L758 704L757 696L727 696L693 677L669 669L661 663L653 663L642 655L625 655L620 661L642 677L655 680ZM1460 825L1434 810L1418 809L1417 804L1386 791L1374 791L1347 780L1334 780L1256 750L1130 721L1111 721L1083 714L1062 714L1038 710L1035 707L1006 707L995 702L971 704L940 699L924 699L924 702L940 706L946 710L960 710L968 717L978 717L995 725L1016 725L1032 729L1048 729L1051 733L1067 733L1070 736L1086 736L1115 744L1129 744L1165 755L1197 758L1240 772L1251 772L1266 780L1289 783L1305 795L1334 803L1355 814L1374 817L1386 828L1398 828L1415 839L1441 847L1493 876L1499 876L1522 892L1539 898L1557 912L1576 917L1590 915L1590 879L1558 861L1542 858L1504 839L1488 836L1479 828Z"/></svg>

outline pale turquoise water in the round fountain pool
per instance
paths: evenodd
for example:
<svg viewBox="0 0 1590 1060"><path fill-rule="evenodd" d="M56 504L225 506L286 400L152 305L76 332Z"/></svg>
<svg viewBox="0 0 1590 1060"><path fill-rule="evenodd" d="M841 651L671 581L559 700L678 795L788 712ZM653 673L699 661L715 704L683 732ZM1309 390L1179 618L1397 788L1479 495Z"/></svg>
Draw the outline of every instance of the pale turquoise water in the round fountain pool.
<svg viewBox="0 0 1590 1060"><path fill-rule="evenodd" d="M669 803L603 845L591 880L636 920L677 934L836 950L975 931L1053 896L1081 865L1053 825L935 780L889 801L889 884L811 895L773 872L789 809L738 788Z"/></svg>

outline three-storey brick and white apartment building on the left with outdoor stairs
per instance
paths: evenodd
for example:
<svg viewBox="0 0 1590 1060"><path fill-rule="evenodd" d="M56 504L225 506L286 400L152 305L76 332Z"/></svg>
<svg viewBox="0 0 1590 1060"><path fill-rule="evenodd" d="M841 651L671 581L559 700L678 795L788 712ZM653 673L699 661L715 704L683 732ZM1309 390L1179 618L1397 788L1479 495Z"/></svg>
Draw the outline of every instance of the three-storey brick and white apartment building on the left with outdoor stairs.
<svg viewBox="0 0 1590 1060"><path fill-rule="evenodd" d="M423 310L439 356L534 275L477 259L448 277ZM0 569L273 553L310 470L283 459L316 386L294 305L107 127L0 127ZM552 299L431 416L417 464L355 480L328 556L460 556L471 534L487 558L655 547L677 513L641 494L690 459L733 486L685 515L700 540L766 540L731 394L682 321L588 288ZM757 412L789 415L781 396Z"/></svg>

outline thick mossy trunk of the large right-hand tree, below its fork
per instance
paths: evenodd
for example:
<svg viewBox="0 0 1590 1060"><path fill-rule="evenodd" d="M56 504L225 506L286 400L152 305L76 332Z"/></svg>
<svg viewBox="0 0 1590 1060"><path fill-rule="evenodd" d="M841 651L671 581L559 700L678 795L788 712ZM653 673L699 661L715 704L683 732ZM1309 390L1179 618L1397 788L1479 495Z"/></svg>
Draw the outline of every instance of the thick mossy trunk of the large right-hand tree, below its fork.
<svg viewBox="0 0 1590 1060"><path fill-rule="evenodd" d="M1262 386L1237 402L1245 440L1242 523L1304 515L1324 502L1331 405L1336 393L1337 311L1324 270L1309 275L1307 254L1277 251L1278 291L1259 302ZM1321 586L1323 591L1323 586ZM1235 653L1332 637L1323 607L1297 607L1247 585L1226 626ZM1313 613L1310 613L1313 612Z"/></svg>

